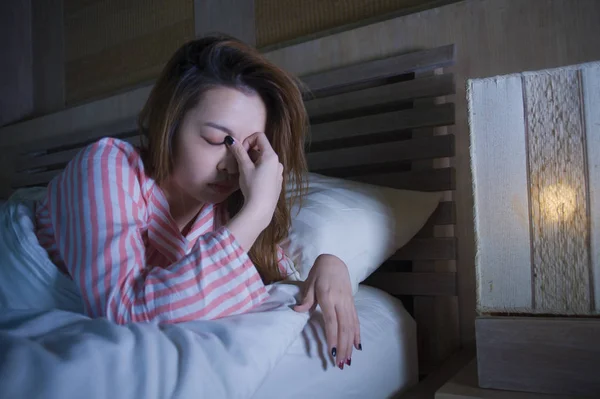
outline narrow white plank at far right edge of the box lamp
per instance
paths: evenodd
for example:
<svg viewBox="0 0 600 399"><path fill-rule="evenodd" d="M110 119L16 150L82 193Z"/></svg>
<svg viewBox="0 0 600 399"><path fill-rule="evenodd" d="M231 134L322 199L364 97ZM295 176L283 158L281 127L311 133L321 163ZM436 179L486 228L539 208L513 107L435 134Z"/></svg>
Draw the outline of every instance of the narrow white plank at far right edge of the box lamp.
<svg viewBox="0 0 600 399"><path fill-rule="evenodd" d="M594 273L595 306L598 313L600 311L600 64L584 68L581 76L590 190L590 253Z"/></svg>

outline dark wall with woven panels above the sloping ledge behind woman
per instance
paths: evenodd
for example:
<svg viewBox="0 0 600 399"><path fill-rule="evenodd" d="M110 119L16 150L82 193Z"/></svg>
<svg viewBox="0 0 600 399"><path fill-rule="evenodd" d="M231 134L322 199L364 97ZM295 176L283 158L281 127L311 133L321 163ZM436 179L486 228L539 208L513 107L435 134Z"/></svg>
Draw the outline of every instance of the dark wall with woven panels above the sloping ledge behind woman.
<svg viewBox="0 0 600 399"><path fill-rule="evenodd" d="M6 84L24 88L23 79L32 75L33 89L26 92L33 90L33 105L11 101L3 112L15 113L11 121L44 115L151 84L173 51L195 34L224 31L259 48L282 47L451 1L10 0L0 6L3 16L14 17L2 27L3 37L12 38L4 52L12 55L11 66L5 68L20 66L6 71ZM25 54L32 67L22 68Z"/></svg>

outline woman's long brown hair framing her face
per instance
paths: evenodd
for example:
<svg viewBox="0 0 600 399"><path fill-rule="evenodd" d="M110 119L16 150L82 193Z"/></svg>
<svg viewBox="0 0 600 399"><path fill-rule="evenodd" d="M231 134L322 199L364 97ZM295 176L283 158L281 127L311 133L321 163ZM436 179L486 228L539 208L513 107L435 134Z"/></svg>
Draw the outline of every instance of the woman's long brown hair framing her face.
<svg viewBox="0 0 600 399"><path fill-rule="evenodd" d="M275 282L282 277L276 245L287 237L292 205L301 200L306 187L308 117L297 80L230 36L207 36L184 44L166 64L139 115L144 166L157 184L165 182L173 170L173 140L180 123L202 94L215 86L251 90L267 109L265 134L284 167L283 190L271 223L249 256L263 281ZM296 190L286 200L288 183ZM229 216L242 205L243 195L238 190L226 201Z"/></svg>

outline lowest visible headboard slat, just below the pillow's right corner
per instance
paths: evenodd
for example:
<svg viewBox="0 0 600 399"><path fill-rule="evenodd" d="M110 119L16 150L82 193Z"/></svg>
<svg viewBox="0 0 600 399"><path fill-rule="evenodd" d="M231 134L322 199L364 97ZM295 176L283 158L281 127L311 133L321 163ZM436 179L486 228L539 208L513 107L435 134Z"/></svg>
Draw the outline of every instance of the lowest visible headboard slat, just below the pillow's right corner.
<svg viewBox="0 0 600 399"><path fill-rule="evenodd" d="M454 272L379 272L365 281L391 295L455 296Z"/></svg>

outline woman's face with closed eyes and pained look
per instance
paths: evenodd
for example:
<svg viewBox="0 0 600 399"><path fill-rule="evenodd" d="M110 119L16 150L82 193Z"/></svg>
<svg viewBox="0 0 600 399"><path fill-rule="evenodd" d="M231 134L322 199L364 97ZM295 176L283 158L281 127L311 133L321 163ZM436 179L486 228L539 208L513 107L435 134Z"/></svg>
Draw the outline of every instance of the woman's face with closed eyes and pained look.
<svg viewBox="0 0 600 399"><path fill-rule="evenodd" d="M238 167L225 146L227 135L243 143L264 132L267 110L260 96L228 87L202 95L184 117L175 139L172 180L188 200L220 203L239 189ZM186 201L187 202L187 201Z"/></svg>

